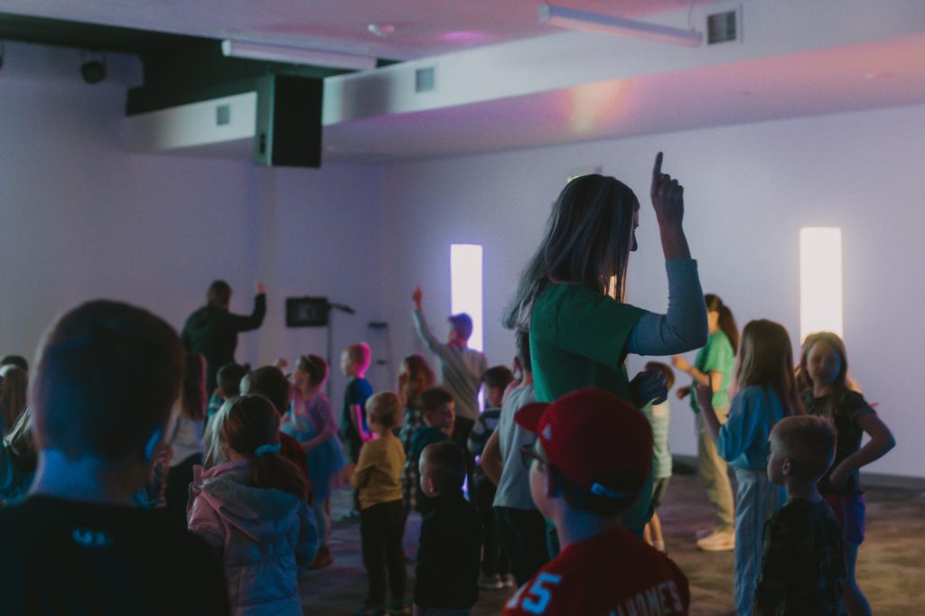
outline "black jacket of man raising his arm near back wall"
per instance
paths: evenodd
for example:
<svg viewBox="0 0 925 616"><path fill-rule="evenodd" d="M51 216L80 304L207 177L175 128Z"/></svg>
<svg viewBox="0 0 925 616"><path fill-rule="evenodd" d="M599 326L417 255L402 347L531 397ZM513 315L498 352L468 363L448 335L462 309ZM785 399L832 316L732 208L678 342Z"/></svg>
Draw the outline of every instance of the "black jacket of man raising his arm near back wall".
<svg viewBox="0 0 925 616"><path fill-rule="evenodd" d="M206 391L216 388L216 373L228 362L234 361L238 347L238 332L250 331L263 325L266 314L266 295L253 298L253 313L231 314L223 308L203 306L190 315L183 326L183 345L191 353L205 357Z"/></svg>

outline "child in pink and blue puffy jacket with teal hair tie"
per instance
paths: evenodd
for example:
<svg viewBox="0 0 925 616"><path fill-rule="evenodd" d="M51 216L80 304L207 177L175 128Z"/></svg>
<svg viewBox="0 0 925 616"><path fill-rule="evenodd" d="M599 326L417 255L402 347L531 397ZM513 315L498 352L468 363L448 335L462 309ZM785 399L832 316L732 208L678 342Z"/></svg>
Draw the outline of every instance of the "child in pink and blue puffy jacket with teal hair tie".
<svg viewBox="0 0 925 616"><path fill-rule="evenodd" d="M195 468L190 530L221 552L236 616L302 614L299 571L318 533L304 475L279 452L279 414L263 396L225 402L216 426L228 462Z"/></svg>

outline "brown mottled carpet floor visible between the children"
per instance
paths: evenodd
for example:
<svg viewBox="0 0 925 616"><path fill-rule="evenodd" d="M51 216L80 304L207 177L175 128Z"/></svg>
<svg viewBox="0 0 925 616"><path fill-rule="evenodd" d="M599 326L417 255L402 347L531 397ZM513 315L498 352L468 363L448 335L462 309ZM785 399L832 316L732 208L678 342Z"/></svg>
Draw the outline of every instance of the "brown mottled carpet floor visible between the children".
<svg viewBox="0 0 925 616"><path fill-rule="evenodd" d="M857 579L877 616L925 614L925 494L869 488L868 535L860 549ZM335 520L349 505L341 490L332 502ZM709 504L692 474L675 474L659 514L669 555L691 585L691 614L712 616L733 610L732 552L702 552L694 545L697 530L710 523ZM408 520L405 553L416 550L420 518ZM366 578L360 556L360 526L336 522L331 542L335 562L302 577L305 614L350 614L363 604ZM408 567L408 598L413 587ZM499 614L511 590L482 591L473 616Z"/></svg>

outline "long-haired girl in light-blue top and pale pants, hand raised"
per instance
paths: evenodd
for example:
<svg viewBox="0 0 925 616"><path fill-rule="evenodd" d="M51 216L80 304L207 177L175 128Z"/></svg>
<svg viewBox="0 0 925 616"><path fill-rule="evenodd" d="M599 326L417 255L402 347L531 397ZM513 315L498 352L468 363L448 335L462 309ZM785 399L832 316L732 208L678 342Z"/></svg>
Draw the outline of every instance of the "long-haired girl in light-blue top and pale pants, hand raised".
<svg viewBox="0 0 925 616"><path fill-rule="evenodd" d="M765 319L745 326L735 384L725 424L713 408L715 392L709 385L697 387L697 406L716 439L717 452L735 470L734 601L736 613L749 616L761 571L764 523L787 499L784 488L768 478L768 439L777 422L803 413L793 347L783 326Z"/></svg>

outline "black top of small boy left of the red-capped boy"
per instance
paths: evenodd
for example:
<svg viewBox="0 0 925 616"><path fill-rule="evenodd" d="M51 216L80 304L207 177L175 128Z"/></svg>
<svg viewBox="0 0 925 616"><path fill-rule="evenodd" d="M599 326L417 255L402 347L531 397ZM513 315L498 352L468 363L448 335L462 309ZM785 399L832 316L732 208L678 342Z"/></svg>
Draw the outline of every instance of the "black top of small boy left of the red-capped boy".
<svg viewBox="0 0 925 616"><path fill-rule="evenodd" d="M414 604L421 608L465 610L478 599L482 525L478 513L455 494L431 499L421 524Z"/></svg>

